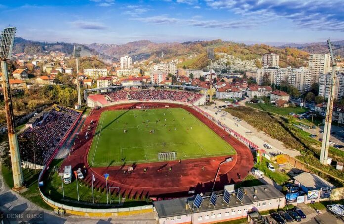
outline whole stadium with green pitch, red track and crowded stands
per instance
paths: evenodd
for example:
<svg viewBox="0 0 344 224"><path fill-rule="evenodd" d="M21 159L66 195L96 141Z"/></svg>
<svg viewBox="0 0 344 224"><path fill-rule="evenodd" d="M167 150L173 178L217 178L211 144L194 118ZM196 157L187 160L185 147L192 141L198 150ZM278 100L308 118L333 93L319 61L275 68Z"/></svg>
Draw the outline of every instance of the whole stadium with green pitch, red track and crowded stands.
<svg viewBox="0 0 344 224"><path fill-rule="evenodd" d="M230 127L198 107L206 102L205 91L160 85L87 89L89 114L82 118L82 112L61 106L47 116L38 114L28 125L40 124L21 134L19 142L30 150L36 143L27 139L44 139L42 152L36 152L36 161L26 150L21 157L29 167L43 167L69 148L59 170L80 168L88 186L93 174L95 189L107 186L111 194L131 198L223 189L248 175L253 156Z"/></svg>

